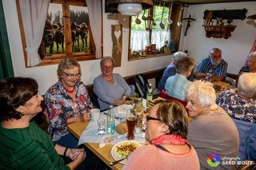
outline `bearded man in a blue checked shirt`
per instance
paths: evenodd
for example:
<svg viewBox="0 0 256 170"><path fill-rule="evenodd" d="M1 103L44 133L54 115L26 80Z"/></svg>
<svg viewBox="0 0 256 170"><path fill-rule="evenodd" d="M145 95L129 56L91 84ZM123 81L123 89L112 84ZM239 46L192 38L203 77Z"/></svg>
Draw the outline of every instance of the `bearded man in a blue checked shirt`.
<svg viewBox="0 0 256 170"><path fill-rule="evenodd" d="M227 62L222 59L222 51L218 48L210 49L209 57L202 60L198 66L197 78L202 79L210 73L212 79L222 81L226 77ZM212 81L214 81L212 80Z"/></svg>

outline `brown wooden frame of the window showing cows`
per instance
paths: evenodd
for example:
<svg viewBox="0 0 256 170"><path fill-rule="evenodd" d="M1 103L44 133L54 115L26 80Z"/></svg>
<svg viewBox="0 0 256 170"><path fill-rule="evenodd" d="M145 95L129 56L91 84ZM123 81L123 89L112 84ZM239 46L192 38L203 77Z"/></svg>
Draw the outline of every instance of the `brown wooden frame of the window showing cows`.
<svg viewBox="0 0 256 170"><path fill-rule="evenodd" d="M102 1L101 1L102 2ZM57 4L61 4L62 7L63 6L86 6L86 2L85 1L76 1L76 0L70 0L70 1L65 1L65 0L51 0L50 3L57 3ZM16 6L17 6L17 11L18 11L18 22L19 22L19 26L20 26L20 32L21 32L21 37L22 37L22 49L23 49L23 53L24 53L24 59L25 59L25 65L26 68L29 68L30 66L27 65L27 53L26 53L26 37L24 34L24 27L23 27L23 23L22 23L22 15L21 15L21 10L20 10L20 6L19 6L19 0L16 0ZM88 8L88 7L87 7ZM58 64L60 61L62 61L62 59L64 57L74 57L77 61L88 61L88 60L95 60L95 51L96 51L96 47L95 47L95 43L94 43L94 39L92 37L92 33L91 33L91 28L89 26L89 42L90 42L90 52L86 53L86 52L73 52L72 51L72 38L71 38L71 21L70 21L70 8L66 7L66 8L62 8L62 12L63 12L63 26L64 26L64 36L65 36L65 45L66 45L66 53L54 53L54 54L45 54L44 49L41 49L42 45L39 46L38 52L40 50L43 51L44 53L44 57L42 59L42 61L36 65L36 66L42 66L42 65L54 65L54 64ZM42 43L43 43L43 38L42 38ZM39 52L39 55L40 52Z"/></svg>

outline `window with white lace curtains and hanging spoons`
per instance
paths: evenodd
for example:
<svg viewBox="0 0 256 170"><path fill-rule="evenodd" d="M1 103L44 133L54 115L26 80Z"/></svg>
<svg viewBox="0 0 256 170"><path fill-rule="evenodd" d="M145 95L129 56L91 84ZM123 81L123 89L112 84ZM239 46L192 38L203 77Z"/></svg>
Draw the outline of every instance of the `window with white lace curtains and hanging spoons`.
<svg viewBox="0 0 256 170"><path fill-rule="evenodd" d="M154 2L130 18L129 59L162 56L178 50L181 27L177 25L181 6ZM171 21L173 24L169 24ZM165 48L166 47L166 48Z"/></svg>

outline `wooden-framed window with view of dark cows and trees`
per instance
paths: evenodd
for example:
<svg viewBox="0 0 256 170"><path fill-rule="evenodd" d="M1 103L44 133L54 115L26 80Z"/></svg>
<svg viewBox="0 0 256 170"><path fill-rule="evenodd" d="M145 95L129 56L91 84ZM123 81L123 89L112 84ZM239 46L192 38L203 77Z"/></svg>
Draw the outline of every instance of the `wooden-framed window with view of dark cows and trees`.
<svg viewBox="0 0 256 170"><path fill-rule="evenodd" d="M22 36L23 45L26 45L24 39ZM38 53L42 59L39 65L55 64L67 56L78 61L95 58L85 1L51 0Z"/></svg>

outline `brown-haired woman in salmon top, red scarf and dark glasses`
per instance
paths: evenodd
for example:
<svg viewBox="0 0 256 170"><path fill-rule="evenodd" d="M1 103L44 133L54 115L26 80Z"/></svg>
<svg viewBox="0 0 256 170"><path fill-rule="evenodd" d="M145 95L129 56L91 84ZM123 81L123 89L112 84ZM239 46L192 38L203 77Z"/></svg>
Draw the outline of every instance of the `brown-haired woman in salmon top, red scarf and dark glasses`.
<svg viewBox="0 0 256 170"><path fill-rule="evenodd" d="M123 169L200 169L197 153L186 140L188 120L182 104L158 103L146 118L150 144L136 149Z"/></svg>

